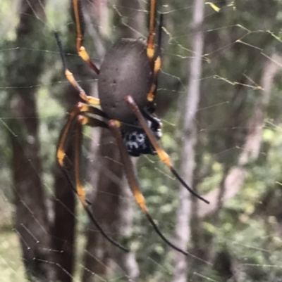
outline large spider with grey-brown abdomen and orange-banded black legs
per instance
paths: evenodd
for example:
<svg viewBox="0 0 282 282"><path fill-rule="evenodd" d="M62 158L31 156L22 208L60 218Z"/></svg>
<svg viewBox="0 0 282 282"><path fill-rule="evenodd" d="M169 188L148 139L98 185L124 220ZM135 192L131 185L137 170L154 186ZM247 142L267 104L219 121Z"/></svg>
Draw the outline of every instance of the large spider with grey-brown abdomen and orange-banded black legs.
<svg viewBox="0 0 282 282"><path fill-rule="evenodd" d="M62 129L56 158L61 169L63 169L63 172L66 173L68 179L71 181L73 189L75 193L78 194L78 198L91 221L97 226L97 229L99 229L107 240L118 248L128 251L127 248L114 241L102 230L90 210L90 203L85 199L85 190L80 179L82 126L88 125L90 127L104 127L109 129L118 144L128 184L133 192L137 205L139 205L145 213L147 219L149 219L149 222L154 227L154 230L171 248L182 252L184 255L188 255L187 252L168 241L159 230L157 224L154 223L147 209L145 198L140 191L137 177L133 170L133 163L130 160L130 156L157 154L160 160L171 170L176 179L178 179L192 195L197 196L197 198L203 200L205 203L209 203L195 193L195 191L183 181L178 172L173 168L167 153L157 142L161 138L161 121L154 115L156 108L154 101L157 93L157 77L161 68L160 46L163 17L161 14L158 27L157 48L155 48L156 7L157 0L150 0L149 36L147 41L129 38L118 40L108 53L106 53L101 68L98 69L97 66L92 63L90 56L88 56L87 51L82 46L82 11L80 10L80 1L73 0L76 48L82 60L85 60L87 65L98 75L99 99L87 96L85 91L75 80L73 74L68 70L59 34L55 32L66 78L75 89L77 89L81 99L73 110L71 110L71 113L69 113L68 120ZM97 108L97 106L101 109ZM66 141L72 132L75 134L74 183L65 165Z"/></svg>

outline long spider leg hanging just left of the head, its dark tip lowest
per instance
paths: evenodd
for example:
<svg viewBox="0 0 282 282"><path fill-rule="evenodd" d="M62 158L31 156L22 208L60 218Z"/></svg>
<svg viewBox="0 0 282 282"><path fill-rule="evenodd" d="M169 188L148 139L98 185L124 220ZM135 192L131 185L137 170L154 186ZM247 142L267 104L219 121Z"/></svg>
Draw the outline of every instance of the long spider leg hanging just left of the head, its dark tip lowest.
<svg viewBox="0 0 282 282"><path fill-rule="evenodd" d="M154 227L154 230L166 242L166 244L171 246L171 248L173 248L174 250L177 250L178 252L183 253L183 255L188 255L187 252L176 247L176 245L173 245L173 243L171 243L170 241L168 241L168 239L166 239L163 233L161 233L161 231L159 230L157 224L154 223L154 219L152 219L151 215L149 214L147 205L145 203L145 198L140 191L137 179L135 177L135 173L133 171L133 163L131 162L130 156L128 155L128 151L126 150L124 146L120 127L121 127L121 122L118 122L117 120L109 120L109 129L111 130L111 133L113 134L113 136L116 138L116 141L118 142L118 148L121 152L121 158L125 166L125 174L126 174L126 177L128 178L128 183L129 183L131 191L133 192L137 205L141 207L147 219Z"/></svg>

